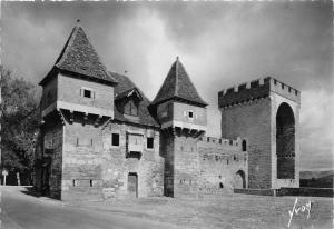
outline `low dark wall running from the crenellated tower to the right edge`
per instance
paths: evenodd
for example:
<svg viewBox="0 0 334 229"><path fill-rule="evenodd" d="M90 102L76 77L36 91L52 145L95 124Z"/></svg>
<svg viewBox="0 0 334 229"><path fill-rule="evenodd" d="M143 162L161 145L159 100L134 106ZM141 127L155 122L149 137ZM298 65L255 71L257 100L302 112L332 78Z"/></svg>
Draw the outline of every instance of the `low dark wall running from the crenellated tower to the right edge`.
<svg viewBox="0 0 334 229"><path fill-rule="evenodd" d="M277 196L334 197L334 188L281 188Z"/></svg>

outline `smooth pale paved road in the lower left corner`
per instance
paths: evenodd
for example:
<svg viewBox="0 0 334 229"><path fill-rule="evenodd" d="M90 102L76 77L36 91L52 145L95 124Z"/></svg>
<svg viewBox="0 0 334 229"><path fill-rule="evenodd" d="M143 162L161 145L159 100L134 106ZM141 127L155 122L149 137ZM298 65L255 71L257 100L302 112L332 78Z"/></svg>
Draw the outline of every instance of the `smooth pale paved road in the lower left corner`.
<svg viewBox="0 0 334 229"><path fill-rule="evenodd" d="M78 209L61 201L23 193L23 187L1 187L1 222L3 229L101 229L101 228L175 228L164 225L116 216L112 212Z"/></svg>

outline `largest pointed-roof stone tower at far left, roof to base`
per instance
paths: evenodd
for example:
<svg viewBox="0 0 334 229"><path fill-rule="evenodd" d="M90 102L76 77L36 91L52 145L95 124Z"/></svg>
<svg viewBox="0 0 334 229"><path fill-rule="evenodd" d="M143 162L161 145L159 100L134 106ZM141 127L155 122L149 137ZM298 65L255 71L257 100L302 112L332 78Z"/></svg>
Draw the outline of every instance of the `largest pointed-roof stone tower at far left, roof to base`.
<svg viewBox="0 0 334 229"><path fill-rule="evenodd" d="M114 118L115 78L84 29L73 28L42 87L42 185L61 198L80 182L99 186L99 127ZM88 162L87 162L88 161ZM82 185L82 183L81 183Z"/></svg>

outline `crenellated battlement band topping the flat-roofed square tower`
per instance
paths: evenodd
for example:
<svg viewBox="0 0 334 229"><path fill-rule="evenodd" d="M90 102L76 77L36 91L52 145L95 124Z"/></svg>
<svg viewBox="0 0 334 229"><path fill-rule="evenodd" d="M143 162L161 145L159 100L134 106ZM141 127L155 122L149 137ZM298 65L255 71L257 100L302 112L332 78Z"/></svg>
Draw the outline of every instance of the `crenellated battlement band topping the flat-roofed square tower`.
<svg viewBox="0 0 334 229"><path fill-rule="evenodd" d="M266 98L271 92L278 93L297 103L301 102L301 92L272 77L266 77L250 82L245 82L218 92L219 108L234 106L261 98Z"/></svg>

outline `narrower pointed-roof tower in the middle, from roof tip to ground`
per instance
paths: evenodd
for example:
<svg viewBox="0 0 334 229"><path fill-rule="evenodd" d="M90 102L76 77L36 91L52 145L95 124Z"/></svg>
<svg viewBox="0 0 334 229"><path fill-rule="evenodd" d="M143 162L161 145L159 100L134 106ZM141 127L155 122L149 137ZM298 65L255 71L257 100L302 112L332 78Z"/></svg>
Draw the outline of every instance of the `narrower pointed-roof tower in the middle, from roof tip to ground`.
<svg viewBox="0 0 334 229"><path fill-rule="evenodd" d="M197 141L206 131L206 106L177 58L151 102L161 125L165 196L179 197L198 192Z"/></svg>

